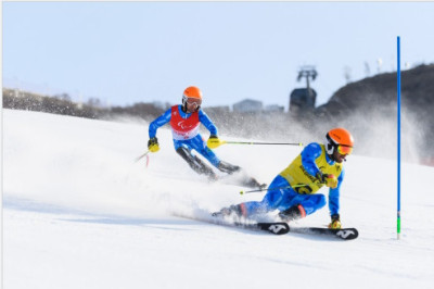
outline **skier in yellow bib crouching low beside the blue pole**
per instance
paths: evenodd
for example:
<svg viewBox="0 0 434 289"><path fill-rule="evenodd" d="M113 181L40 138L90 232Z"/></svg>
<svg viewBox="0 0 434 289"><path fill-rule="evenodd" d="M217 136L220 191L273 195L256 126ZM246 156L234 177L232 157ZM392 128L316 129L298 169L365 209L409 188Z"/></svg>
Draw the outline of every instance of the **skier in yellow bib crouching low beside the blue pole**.
<svg viewBox="0 0 434 289"><path fill-rule="evenodd" d="M323 186L329 190L330 228L341 228L340 189L344 180L343 161L352 153L354 139L344 128L331 129L326 144L311 142L268 187L260 202L245 202L224 208L214 215L250 217L279 210L284 222L298 219L326 205L326 197L316 194Z"/></svg>

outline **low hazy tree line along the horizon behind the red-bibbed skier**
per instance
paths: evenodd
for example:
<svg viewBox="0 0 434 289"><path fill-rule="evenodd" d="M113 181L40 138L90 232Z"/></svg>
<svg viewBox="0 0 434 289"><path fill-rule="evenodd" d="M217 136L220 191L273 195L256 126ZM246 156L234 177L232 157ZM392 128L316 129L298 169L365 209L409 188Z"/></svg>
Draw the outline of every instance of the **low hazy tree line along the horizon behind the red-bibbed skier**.
<svg viewBox="0 0 434 289"><path fill-rule="evenodd" d="M4 109L37 111L92 120L138 118L152 122L170 106L169 103L139 102L128 106L103 108L98 99L77 103L72 101L67 93L50 97L3 88ZM296 121L283 112L239 113L230 111L229 105L204 108L204 111L217 125L220 134L245 138L288 136L288 124L291 123L294 128ZM270 129L271 127L272 129ZM201 127L201 129L204 128Z"/></svg>

